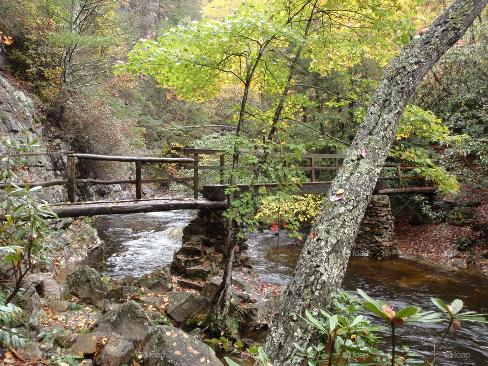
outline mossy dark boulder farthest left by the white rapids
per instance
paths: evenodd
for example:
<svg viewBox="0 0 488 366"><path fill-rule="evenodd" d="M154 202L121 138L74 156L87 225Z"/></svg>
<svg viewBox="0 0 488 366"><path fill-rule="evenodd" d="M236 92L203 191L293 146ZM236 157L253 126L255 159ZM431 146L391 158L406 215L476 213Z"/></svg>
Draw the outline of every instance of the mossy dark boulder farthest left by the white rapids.
<svg viewBox="0 0 488 366"><path fill-rule="evenodd" d="M96 304L107 297L108 289L93 268L80 265L66 278L67 292Z"/></svg>

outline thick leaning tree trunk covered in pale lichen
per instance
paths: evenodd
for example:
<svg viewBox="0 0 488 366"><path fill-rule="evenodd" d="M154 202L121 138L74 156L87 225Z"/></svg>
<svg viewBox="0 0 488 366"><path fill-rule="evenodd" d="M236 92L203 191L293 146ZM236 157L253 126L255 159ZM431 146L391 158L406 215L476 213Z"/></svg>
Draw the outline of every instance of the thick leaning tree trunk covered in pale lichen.
<svg viewBox="0 0 488 366"><path fill-rule="evenodd" d="M316 218L315 235L302 248L285 299L266 338L265 351L278 366L297 365L293 342L317 340L302 319L318 313L342 282L357 228L370 201L400 118L417 84L459 40L488 0L457 0L421 37L411 40L383 75L338 175ZM344 189L343 196L335 192ZM338 198L341 198L337 200Z"/></svg>

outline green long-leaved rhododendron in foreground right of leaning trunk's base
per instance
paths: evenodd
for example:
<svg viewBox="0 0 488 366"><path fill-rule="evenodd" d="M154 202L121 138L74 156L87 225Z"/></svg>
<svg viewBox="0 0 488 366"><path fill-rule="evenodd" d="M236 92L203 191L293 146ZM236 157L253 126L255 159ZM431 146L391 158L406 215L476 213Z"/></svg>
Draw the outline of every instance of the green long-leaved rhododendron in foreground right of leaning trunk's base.
<svg viewBox="0 0 488 366"><path fill-rule="evenodd" d="M450 305L445 304L440 299L432 298L432 302L441 309L441 312L427 311L422 312L420 308L408 306L398 312L394 312L384 301L374 300L362 290L357 290L365 300L360 303L357 298L346 292L339 291L333 298L333 311L327 312L320 310L319 314L312 316L306 312L305 320L321 336L321 342L307 349L303 349L298 344L296 358L306 362L308 365L432 365L437 360L437 353L444 341L447 330L451 329L454 322L470 321L486 323L486 314L476 314L475 312L461 312L463 301L456 299ZM366 318L364 310L369 310L377 315L388 327L373 325L371 320ZM412 322L430 323L445 322L447 329L442 335L438 345L435 347L432 357L428 361L421 359L421 355L410 351L408 346L395 346L397 341L394 333L395 327L401 324ZM379 331L390 328L392 331L392 352L382 351L381 339L376 335ZM455 329L459 329L456 327ZM454 330L455 330L454 329ZM328 351L324 346L330 343L332 351ZM400 354L399 354L400 353Z"/></svg>

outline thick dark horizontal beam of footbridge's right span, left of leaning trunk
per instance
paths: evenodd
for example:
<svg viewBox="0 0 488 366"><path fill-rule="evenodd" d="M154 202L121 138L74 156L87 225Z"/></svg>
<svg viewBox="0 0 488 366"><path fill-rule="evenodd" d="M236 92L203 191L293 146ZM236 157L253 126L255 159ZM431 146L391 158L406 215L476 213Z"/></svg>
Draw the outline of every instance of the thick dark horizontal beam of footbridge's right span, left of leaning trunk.
<svg viewBox="0 0 488 366"><path fill-rule="evenodd" d="M227 195L225 194L225 190L227 187L228 185L204 185L203 198L215 201L225 201L227 200ZM237 185L237 187L239 188L240 193L249 192L250 189L250 187L247 185ZM283 186L274 183L257 184L254 186L253 195L259 195L259 189L261 187L264 187L266 189L267 194L272 195ZM291 194L302 195L327 193L329 191L329 187L329 181L307 182L303 183L300 187L297 187L291 192Z"/></svg>

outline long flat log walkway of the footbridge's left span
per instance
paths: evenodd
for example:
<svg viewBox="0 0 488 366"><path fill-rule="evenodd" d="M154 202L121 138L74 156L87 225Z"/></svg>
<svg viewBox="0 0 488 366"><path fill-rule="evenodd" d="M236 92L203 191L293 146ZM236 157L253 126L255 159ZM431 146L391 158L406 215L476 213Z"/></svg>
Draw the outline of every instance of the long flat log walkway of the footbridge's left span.
<svg viewBox="0 0 488 366"><path fill-rule="evenodd" d="M209 201L202 199L187 200L139 200L129 202L92 203L83 205L64 205L51 207L51 210L60 218L136 214L137 212L159 212L176 209L221 209L226 208L226 202ZM52 218L52 217L46 217Z"/></svg>

